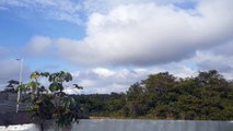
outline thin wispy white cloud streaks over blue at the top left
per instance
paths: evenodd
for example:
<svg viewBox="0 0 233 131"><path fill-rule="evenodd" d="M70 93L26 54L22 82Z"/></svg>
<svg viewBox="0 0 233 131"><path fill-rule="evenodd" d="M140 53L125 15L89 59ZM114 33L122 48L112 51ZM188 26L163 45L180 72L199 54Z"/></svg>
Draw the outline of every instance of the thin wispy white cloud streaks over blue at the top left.
<svg viewBox="0 0 233 131"><path fill-rule="evenodd" d="M4 9L24 8L26 12L33 12L48 19L67 21L81 24L81 5L70 0L1 0L0 7ZM24 10L25 11L25 10ZM24 14L22 13L22 14Z"/></svg>

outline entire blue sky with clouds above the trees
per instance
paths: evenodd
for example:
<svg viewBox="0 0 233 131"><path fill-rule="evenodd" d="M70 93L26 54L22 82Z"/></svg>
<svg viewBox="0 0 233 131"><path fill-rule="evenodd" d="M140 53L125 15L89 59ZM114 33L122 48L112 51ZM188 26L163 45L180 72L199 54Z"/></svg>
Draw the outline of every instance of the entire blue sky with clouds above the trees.
<svg viewBox="0 0 233 131"><path fill-rule="evenodd" d="M218 70L233 79L232 0L0 0L0 86L68 71L92 94L149 74Z"/></svg>

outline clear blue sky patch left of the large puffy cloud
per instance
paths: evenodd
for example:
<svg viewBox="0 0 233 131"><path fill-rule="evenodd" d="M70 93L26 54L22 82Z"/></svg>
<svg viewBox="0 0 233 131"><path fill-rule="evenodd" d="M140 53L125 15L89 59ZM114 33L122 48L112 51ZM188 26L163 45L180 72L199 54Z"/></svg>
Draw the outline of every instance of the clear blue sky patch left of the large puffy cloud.
<svg viewBox="0 0 233 131"><path fill-rule="evenodd" d="M28 43L28 39L34 35L75 39L85 36L84 26L82 25L44 19L35 15L33 12L23 17L23 14L16 14L18 10L2 10L0 12L0 27L4 31L0 32L2 45L22 46ZM14 38L9 38L10 36L14 36Z"/></svg>

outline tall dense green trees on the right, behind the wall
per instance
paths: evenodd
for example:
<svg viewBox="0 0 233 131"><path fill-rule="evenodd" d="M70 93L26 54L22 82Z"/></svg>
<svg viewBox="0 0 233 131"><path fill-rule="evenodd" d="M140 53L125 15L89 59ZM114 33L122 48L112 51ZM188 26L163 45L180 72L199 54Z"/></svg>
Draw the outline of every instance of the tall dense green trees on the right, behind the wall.
<svg viewBox="0 0 233 131"><path fill-rule="evenodd" d="M215 70L196 78L177 79L158 73L136 83L127 92L128 111L162 119L232 120L233 88ZM135 96L133 98L131 98ZM131 106L131 104L136 104ZM142 109L138 111L138 109ZM127 111L127 110L126 110ZM129 114L130 115L130 114ZM136 115L133 115L136 116Z"/></svg>

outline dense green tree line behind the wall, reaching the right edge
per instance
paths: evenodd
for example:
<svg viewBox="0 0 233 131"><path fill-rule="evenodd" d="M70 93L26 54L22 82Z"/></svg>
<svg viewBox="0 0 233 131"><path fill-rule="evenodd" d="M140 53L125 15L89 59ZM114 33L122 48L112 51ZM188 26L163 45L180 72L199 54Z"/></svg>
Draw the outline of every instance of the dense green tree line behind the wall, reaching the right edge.
<svg viewBox="0 0 233 131"><path fill-rule="evenodd" d="M90 116L233 120L233 81L215 70L185 79L161 72L136 82L126 93L73 97Z"/></svg>

